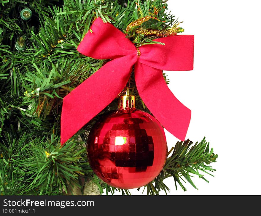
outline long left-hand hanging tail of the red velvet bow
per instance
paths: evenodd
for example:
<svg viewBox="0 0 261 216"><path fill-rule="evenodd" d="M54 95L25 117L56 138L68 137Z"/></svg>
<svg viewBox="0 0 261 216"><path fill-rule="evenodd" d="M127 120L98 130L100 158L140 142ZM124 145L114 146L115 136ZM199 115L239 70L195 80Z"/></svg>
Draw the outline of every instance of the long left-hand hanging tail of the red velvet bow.
<svg viewBox="0 0 261 216"><path fill-rule="evenodd" d="M133 55L113 59L64 97L61 144L115 99L126 86L136 60Z"/></svg>

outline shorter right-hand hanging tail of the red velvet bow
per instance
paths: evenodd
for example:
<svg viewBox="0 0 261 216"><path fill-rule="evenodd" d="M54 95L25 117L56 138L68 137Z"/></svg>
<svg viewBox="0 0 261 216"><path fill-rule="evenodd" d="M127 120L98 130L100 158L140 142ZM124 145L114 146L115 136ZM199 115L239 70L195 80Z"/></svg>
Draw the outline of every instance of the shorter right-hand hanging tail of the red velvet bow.
<svg viewBox="0 0 261 216"><path fill-rule="evenodd" d="M169 90L162 70L137 63L135 80L139 95L155 118L176 138L184 141L191 110Z"/></svg>

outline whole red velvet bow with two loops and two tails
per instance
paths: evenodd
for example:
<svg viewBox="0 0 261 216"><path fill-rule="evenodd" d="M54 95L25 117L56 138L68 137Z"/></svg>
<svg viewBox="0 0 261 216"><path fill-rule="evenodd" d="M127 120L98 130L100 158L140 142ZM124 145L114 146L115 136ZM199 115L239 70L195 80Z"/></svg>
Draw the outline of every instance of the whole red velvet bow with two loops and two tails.
<svg viewBox="0 0 261 216"><path fill-rule="evenodd" d="M135 81L142 100L156 119L184 140L191 111L169 90L162 70L193 70L194 36L156 39L164 43L137 49L110 23L96 19L77 50L95 59L113 59L63 99L61 144L110 104L128 83L135 64Z"/></svg>

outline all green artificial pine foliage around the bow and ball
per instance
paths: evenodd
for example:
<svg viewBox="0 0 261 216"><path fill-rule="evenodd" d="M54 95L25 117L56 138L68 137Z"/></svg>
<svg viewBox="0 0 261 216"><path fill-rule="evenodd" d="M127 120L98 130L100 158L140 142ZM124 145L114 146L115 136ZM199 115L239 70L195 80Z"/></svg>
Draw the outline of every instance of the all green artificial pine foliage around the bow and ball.
<svg viewBox="0 0 261 216"><path fill-rule="evenodd" d="M21 19L24 8L31 9L31 19ZM94 175L85 147L94 122L115 109L116 101L61 147L62 99L109 61L85 57L76 50L95 17L112 23L140 46L183 31L167 9L163 0L0 0L2 195L67 194L71 184L82 187L82 178L95 182L101 193L119 190ZM18 51L15 44L21 37L25 49ZM136 96L136 107L149 112L138 95L133 74L130 89ZM189 140L177 142L163 171L144 189L152 195L161 190L167 193L163 180L168 177L174 178L176 189L186 190L183 180L196 188L191 174L206 180L203 174L214 171L209 163L216 158L205 138L194 146Z"/></svg>

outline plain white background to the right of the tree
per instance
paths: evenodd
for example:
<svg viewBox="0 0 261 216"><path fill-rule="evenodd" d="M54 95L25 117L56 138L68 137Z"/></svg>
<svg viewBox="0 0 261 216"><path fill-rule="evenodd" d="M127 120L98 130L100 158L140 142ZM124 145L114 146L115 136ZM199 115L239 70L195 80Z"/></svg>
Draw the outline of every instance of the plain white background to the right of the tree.
<svg viewBox="0 0 261 216"><path fill-rule="evenodd" d="M261 195L259 1L168 1L184 34L195 35L194 70L166 72L169 88L192 110L186 138L206 136L218 154L209 183L193 178L187 191L165 180L168 195ZM176 139L166 132L168 148ZM130 190L133 195L141 191ZM160 193L164 195L165 193ZM146 192L144 192L146 195Z"/></svg>

